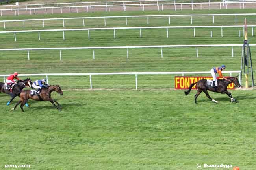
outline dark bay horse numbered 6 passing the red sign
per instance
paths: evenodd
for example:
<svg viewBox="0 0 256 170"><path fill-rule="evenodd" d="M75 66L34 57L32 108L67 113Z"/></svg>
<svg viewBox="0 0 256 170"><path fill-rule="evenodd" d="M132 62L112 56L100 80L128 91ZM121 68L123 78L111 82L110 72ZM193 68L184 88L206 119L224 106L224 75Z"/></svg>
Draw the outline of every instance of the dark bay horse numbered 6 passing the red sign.
<svg viewBox="0 0 256 170"><path fill-rule="evenodd" d="M214 99L212 99L208 93L207 90L210 90L210 91L213 91L213 92L216 92L216 93L221 93L221 94L226 94L228 95L228 97L230 97L230 100L231 102L234 102L236 101L236 99L234 99L231 95L231 93L227 90L227 86L228 84L230 83L234 83L236 86L238 87L241 87L239 81L238 81L238 78L237 76L236 77L229 77L229 78L226 78L226 79L218 79L217 81L217 87L211 87L211 86L207 86L207 80L206 79L202 79L202 80L199 80L198 82L195 82L193 84L191 84L189 86L189 90L188 91L185 91L185 95L188 95L191 91L191 88L195 85L196 85L196 88L197 88L197 94L195 95L195 103L197 103L197 97L200 95L200 93L204 92L206 94L206 96L211 99L211 101L215 102L215 103L218 103L218 101L215 101Z"/></svg>

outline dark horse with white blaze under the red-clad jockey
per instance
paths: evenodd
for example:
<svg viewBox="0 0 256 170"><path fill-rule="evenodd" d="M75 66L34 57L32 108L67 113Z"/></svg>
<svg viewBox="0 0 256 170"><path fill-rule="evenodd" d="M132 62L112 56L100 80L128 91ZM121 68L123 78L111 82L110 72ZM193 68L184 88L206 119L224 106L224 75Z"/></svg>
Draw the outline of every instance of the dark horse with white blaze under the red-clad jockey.
<svg viewBox="0 0 256 170"><path fill-rule="evenodd" d="M11 100L7 103L7 105L9 105L16 96L20 95L22 89L24 89L26 86L31 87L32 84L33 82L30 80L30 78L26 78L25 80L18 80L17 84L13 86L13 92L11 93L10 90L6 90L4 82L0 82L0 92L11 95Z"/></svg>

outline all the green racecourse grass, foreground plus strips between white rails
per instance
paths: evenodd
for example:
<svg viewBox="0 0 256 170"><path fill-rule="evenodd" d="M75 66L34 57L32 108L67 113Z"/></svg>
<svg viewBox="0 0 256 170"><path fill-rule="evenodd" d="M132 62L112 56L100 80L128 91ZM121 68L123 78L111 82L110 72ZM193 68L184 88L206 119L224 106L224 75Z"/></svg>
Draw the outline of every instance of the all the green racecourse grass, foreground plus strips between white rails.
<svg viewBox="0 0 256 170"><path fill-rule="evenodd" d="M69 13L35 16L3 16L1 19L58 18L79 16L157 15L175 11L133 11L126 13ZM176 11L195 13L254 13L255 10ZM246 16L255 24L255 16ZM104 20L88 20L85 27L104 27ZM42 29L40 22L28 22L25 29ZM215 25L234 25L234 17L216 17ZM237 17L237 25L243 17ZM150 18L150 26L168 26L168 18ZM171 26L190 26L190 18L172 18ZM192 25L213 25L211 17L193 18ZM22 30L23 23L6 24L5 30ZM62 22L45 22L45 29L62 28ZM125 19L107 20L107 27L125 26ZM147 26L147 18L131 19L128 26ZM67 28L81 28L82 20L66 22ZM4 31L3 27L0 28ZM39 48L76 46L132 46L171 44L242 44L239 29L87 31L65 33L0 34L0 48ZM242 31L242 30L241 30ZM256 44L249 28L249 43ZM252 57L256 49L251 47ZM241 48L160 48L59 51L27 51L0 53L1 74L19 73L98 73L210 71L226 65L226 70L240 70ZM256 65L253 64L256 68ZM225 74L224 74L225 75ZM227 75L227 74L226 74ZM227 75L228 76L228 75ZM24 77L22 77L24 78ZM43 77L31 77L32 80ZM255 77L254 77L255 79ZM256 116L253 111L255 90L232 90L239 103L232 104L227 95L210 93L219 101L214 104L204 94L194 104L195 91L188 96L174 88L174 76L139 75L135 90L134 75L50 76L50 84L59 84L63 96L53 93L62 104L61 112L50 102L29 101L30 107L11 111L6 106L9 96L0 93L0 167L6 164L30 164L32 170L195 170L200 164L232 164L241 170L255 167ZM244 85L244 84L243 84ZM83 90L85 89L85 90ZM81 90L81 91L80 91ZM22 169L22 168L19 168ZM25 169L25 168L24 168ZM28 169L28 168L26 168ZM201 168L210 170L215 168ZM232 168L229 168L232 169Z"/></svg>

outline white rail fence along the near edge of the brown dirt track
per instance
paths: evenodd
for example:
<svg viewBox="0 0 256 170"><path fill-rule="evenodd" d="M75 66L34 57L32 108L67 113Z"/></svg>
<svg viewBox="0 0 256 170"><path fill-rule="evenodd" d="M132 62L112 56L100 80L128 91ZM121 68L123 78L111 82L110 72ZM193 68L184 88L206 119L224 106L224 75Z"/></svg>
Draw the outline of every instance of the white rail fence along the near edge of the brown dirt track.
<svg viewBox="0 0 256 170"><path fill-rule="evenodd" d="M18 8L18 9L0 9L0 15L3 16L5 11L14 11L15 15L19 15L19 11L28 11L30 10L30 15L36 14L37 10L43 10L45 14L47 14L47 9L51 10L53 14L53 9L60 9L60 13L63 13L63 9L69 9L69 12L71 13L72 8L76 8L76 13L78 13L78 8L83 8L89 13L89 9L94 12L94 8L105 8L105 11L110 11L110 7L122 7L124 11L126 11L126 7L141 7L141 11L145 11L145 6L157 6L158 11L163 11L164 10L164 5L167 7L173 6L174 10L177 10L177 6L180 6L180 10L182 10L182 6L187 5L191 6L191 9L194 10L194 5L200 5L200 9L202 10L202 5L208 5L209 10L211 9L211 5L219 5L219 9L221 9L222 2L200 2L200 3L155 3L155 4L121 4L121 5L81 5L81 6L65 6L65 7L34 7L34 8ZM229 2L228 4L237 4L239 5L239 9L245 9L245 4L249 4L248 6L250 7L250 4L256 4L256 1L254 2ZM226 9L228 9L228 4L226 4ZM243 7L241 7L241 4ZM86 10L87 9L87 10ZM152 9L151 9L152 10ZM58 11L59 12L59 11ZM49 11L48 11L49 13Z"/></svg>

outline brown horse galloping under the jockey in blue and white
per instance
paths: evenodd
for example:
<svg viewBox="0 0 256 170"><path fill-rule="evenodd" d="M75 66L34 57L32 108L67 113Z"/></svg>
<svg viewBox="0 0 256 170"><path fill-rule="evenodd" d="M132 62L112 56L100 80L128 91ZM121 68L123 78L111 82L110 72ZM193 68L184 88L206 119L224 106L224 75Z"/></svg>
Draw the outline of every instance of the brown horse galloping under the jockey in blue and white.
<svg viewBox="0 0 256 170"><path fill-rule="evenodd" d="M23 106L26 102L28 102L28 99L33 99L35 101L50 101L58 110L61 110L61 105L55 99L51 98L51 93L53 91L56 91L57 93L59 93L59 95L63 95L63 91L61 90L59 85L50 85L47 88L42 88L40 95L31 95L30 90L24 90L20 93L20 101L16 103L12 110L15 110L15 108L21 103L20 108L22 112L24 112ZM56 106L54 102L56 102L58 106Z"/></svg>

